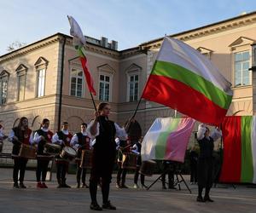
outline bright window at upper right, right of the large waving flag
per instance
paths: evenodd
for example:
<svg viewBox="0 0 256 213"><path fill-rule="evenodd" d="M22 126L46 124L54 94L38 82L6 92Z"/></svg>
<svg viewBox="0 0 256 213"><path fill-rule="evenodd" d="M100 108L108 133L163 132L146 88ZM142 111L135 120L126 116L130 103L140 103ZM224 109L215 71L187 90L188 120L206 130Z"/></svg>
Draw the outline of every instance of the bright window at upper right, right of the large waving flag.
<svg viewBox="0 0 256 213"><path fill-rule="evenodd" d="M235 86L251 84L250 53L249 51L235 54Z"/></svg>

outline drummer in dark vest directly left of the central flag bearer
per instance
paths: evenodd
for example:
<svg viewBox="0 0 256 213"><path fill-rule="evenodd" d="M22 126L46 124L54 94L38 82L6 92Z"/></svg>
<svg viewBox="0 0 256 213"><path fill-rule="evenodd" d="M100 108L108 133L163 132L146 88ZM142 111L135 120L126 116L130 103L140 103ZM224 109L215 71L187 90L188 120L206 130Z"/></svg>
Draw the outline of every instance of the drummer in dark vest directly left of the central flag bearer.
<svg viewBox="0 0 256 213"><path fill-rule="evenodd" d="M81 179L81 173L82 173L82 187L88 187L85 183L85 177L86 177L86 169L81 168L81 157L82 157L82 150L90 150L91 148L91 140L90 137L86 133L87 124L83 123L81 124L81 131L73 135L73 138L71 139L70 145L77 150L77 188L80 187L80 179Z"/></svg>

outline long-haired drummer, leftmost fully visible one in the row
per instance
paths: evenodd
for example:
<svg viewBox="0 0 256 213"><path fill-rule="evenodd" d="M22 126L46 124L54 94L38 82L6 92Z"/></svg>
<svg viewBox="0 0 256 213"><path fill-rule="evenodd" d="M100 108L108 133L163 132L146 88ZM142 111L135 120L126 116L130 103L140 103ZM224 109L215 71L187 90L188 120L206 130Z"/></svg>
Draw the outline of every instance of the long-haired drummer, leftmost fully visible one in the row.
<svg viewBox="0 0 256 213"><path fill-rule="evenodd" d="M12 158L15 161L13 171L14 187L19 188L18 176L20 172L20 188L26 188L23 181L25 176L27 158L20 158L18 156L20 153L21 144L29 145L33 143L32 130L28 128L28 119L26 117L20 118L18 126L10 131L9 141L11 141L14 145L12 152Z"/></svg>

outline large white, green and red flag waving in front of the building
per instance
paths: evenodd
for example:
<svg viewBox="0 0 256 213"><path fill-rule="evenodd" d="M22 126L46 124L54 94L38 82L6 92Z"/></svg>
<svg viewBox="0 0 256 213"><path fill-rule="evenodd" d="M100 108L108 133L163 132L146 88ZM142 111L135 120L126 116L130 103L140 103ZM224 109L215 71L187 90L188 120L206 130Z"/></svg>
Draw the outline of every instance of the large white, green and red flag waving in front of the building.
<svg viewBox="0 0 256 213"><path fill-rule="evenodd" d="M142 97L205 124L220 124L232 101L231 83L186 43L165 37Z"/></svg>

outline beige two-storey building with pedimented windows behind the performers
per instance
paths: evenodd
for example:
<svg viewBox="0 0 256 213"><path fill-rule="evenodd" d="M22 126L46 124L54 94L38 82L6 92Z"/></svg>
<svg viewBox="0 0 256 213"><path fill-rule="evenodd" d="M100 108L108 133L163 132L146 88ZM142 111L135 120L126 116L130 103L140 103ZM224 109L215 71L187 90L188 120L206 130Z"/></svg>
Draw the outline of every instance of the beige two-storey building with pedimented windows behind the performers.
<svg viewBox="0 0 256 213"><path fill-rule="evenodd" d="M256 77L249 69L255 66L252 49L256 47L256 12L170 36L209 57L233 84L229 115L256 114ZM124 124L137 107L163 37L122 51L105 37L86 40L96 102L109 101L112 119ZM52 130L58 130L67 120L73 132L82 122L90 122L94 107L72 37L56 33L1 55L0 106L6 134L22 116L29 119L32 130L38 129L43 118L49 118ZM173 115L172 109L143 100L137 120L145 133L154 118ZM10 147L5 143L3 150Z"/></svg>

